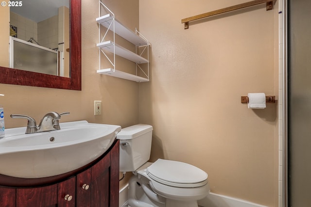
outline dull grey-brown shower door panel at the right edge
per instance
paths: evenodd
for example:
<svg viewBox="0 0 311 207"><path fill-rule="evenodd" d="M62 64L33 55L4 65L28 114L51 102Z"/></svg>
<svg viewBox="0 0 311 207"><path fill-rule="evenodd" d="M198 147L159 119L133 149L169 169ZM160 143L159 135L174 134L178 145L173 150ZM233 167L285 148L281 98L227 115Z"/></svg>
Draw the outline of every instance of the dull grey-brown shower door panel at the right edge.
<svg viewBox="0 0 311 207"><path fill-rule="evenodd" d="M288 206L311 206L311 0L288 0Z"/></svg>

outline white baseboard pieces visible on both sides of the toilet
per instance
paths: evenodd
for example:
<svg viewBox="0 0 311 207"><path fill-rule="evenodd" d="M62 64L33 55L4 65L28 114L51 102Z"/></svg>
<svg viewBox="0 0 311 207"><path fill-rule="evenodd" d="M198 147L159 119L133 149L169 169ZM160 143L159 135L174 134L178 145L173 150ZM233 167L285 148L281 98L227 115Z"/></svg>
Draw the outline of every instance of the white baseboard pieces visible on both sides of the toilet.
<svg viewBox="0 0 311 207"><path fill-rule="evenodd" d="M119 191L119 207L127 207L128 184ZM198 201L202 207L266 207L238 198L210 192L207 197Z"/></svg>

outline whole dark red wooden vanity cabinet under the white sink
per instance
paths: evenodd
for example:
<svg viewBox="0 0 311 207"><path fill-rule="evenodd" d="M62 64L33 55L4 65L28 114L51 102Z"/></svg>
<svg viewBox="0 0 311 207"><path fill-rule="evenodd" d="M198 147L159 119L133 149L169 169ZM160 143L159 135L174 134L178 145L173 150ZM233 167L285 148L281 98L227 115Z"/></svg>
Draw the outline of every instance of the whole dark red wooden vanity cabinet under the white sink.
<svg viewBox="0 0 311 207"><path fill-rule="evenodd" d="M19 181L20 179L18 178ZM116 140L99 159L61 181L45 186L0 187L0 205L119 207L119 141Z"/></svg>

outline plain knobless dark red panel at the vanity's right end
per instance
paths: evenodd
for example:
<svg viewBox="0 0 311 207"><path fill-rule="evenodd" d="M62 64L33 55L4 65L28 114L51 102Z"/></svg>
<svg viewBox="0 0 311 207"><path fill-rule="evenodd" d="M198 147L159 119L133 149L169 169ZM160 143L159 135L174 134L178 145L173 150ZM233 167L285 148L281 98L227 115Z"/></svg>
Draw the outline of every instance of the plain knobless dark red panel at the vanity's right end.
<svg viewBox="0 0 311 207"><path fill-rule="evenodd" d="M109 205L110 152L92 168L91 207L112 207Z"/></svg>

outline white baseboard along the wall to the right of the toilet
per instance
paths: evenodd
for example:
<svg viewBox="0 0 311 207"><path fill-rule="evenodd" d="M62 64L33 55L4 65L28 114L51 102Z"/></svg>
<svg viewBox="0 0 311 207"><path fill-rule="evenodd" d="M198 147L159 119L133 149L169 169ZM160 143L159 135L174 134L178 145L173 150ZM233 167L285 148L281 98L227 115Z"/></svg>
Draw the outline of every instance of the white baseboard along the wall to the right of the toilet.
<svg viewBox="0 0 311 207"><path fill-rule="evenodd" d="M198 201L202 207L266 207L242 199L232 198L210 192L206 198Z"/></svg>

